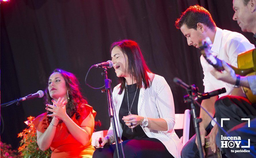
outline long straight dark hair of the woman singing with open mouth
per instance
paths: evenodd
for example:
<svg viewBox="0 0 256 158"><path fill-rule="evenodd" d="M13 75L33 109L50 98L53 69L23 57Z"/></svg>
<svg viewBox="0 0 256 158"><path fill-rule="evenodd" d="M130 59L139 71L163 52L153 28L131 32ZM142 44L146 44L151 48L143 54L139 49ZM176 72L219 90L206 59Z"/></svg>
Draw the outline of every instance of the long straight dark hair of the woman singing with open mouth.
<svg viewBox="0 0 256 158"><path fill-rule="evenodd" d="M119 47L123 52L123 55L126 54L128 58L128 74L132 76L137 83L138 88L149 88L152 82L152 79L149 78L148 72L150 72L146 61L140 51L138 43L132 40L122 40L112 43L110 47L110 53L114 47ZM126 64L125 64L126 65ZM122 94L125 88L125 78L119 77L119 83L121 83L119 95Z"/></svg>

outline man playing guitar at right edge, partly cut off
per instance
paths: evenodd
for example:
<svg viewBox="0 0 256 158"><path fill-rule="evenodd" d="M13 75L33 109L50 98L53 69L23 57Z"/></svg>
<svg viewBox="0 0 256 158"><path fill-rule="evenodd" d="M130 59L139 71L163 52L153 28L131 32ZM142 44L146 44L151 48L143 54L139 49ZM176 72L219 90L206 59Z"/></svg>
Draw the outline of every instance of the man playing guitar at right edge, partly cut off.
<svg viewBox="0 0 256 158"><path fill-rule="evenodd" d="M243 32L252 32L256 42L256 0L233 0L233 9L235 11L233 20L237 21ZM237 77L234 70L225 62L223 66L225 68L223 72L214 69L211 74L224 82L250 88L256 95L256 76ZM240 136L243 143L240 143L238 148L223 148L225 154L228 157L256 157L256 104L251 104L243 97L225 96L215 102L215 110L219 123L221 118L230 118L229 121L223 122L223 128L229 130L229 136ZM241 118L250 119L250 123ZM226 136L222 131L220 134ZM240 151L242 145L250 146L242 149L250 152L231 152L231 150Z"/></svg>

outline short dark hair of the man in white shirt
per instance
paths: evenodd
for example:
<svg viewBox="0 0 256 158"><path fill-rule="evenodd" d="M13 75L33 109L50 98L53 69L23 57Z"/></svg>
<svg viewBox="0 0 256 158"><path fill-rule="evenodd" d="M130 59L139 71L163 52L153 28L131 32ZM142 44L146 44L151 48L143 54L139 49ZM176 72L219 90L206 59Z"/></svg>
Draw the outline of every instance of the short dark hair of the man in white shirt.
<svg viewBox="0 0 256 158"><path fill-rule="evenodd" d="M209 11L200 5L190 6L184 11L180 18L176 20L175 26L177 29L180 29L181 26L186 24L188 28L196 30L198 22L205 24L211 30L214 30L216 27Z"/></svg>

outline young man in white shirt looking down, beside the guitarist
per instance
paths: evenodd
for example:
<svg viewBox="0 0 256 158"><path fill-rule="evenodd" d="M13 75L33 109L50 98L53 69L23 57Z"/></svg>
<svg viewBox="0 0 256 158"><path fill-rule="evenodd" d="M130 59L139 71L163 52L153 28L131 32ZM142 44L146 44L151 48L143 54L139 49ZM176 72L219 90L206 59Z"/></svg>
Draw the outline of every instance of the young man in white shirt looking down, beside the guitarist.
<svg viewBox="0 0 256 158"><path fill-rule="evenodd" d="M206 37L209 37L213 42L211 51L219 59L226 61L230 65L237 66L237 55L244 51L255 48L242 34L228 30L222 30L216 27L211 14L205 8L194 5L184 11L179 19L177 19L176 28L180 29L187 38L188 45L193 45L199 48L199 42ZM205 92L216 90L225 87L227 92L219 95L240 95L244 96L241 88L233 88L232 84L217 80L210 73L213 67L201 56L200 58L204 72ZM215 114L214 103L218 96L203 100L201 106L204 107L213 117ZM202 146L205 145L205 138L210 138L212 151L215 153L216 134L218 132L217 125L211 126L211 117L205 111L200 109L200 135ZM208 134L208 135L207 135ZM205 155L205 151L203 148ZM194 135L182 149L182 157L199 157L198 144L196 135Z"/></svg>

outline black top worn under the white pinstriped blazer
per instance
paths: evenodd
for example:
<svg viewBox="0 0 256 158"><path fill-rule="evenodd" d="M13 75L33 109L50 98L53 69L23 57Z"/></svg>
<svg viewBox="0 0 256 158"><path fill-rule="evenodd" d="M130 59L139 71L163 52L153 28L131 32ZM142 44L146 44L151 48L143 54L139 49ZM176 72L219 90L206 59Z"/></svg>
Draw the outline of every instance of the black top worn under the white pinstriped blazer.
<svg viewBox="0 0 256 158"><path fill-rule="evenodd" d="M128 98L129 98L129 108L131 108L131 114L138 115L138 101L140 96L140 89L138 88L136 96L134 98L135 92L136 92L136 83L127 85L128 90ZM133 101L134 98L134 101ZM131 103L133 101L133 105L131 107ZM128 116L128 102L127 102L127 92L125 88L125 95L119 110L119 121L121 123L123 133L122 133L122 140L128 140L128 139L136 139L136 138L149 138L145 132L143 131L142 127L138 125L137 127L133 128L133 132L131 132L131 128L129 128L125 122L122 120L123 116Z"/></svg>

